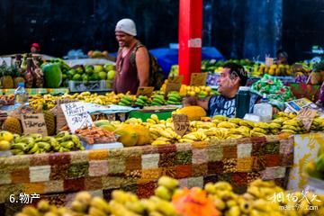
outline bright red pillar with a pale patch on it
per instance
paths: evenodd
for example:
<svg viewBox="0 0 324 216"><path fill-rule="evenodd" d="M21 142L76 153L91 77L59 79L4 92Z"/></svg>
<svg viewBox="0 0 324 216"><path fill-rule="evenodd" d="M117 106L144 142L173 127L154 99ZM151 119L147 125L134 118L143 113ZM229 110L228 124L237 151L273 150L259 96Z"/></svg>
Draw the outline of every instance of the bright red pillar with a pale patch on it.
<svg viewBox="0 0 324 216"><path fill-rule="evenodd" d="M179 1L179 74L189 85L202 67L202 0Z"/></svg>

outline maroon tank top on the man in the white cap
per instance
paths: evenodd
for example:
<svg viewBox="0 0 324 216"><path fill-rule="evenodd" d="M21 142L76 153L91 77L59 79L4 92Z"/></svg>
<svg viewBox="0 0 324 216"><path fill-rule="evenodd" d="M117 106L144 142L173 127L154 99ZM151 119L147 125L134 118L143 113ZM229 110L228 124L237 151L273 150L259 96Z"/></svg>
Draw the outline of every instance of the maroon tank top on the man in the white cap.
<svg viewBox="0 0 324 216"><path fill-rule="evenodd" d="M116 77L114 80L113 91L116 94L127 93L136 94L139 88L139 76L136 65L130 62L130 55L136 47L135 43L126 54L122 57L121 49L118 51L116 60Z"/></svg>

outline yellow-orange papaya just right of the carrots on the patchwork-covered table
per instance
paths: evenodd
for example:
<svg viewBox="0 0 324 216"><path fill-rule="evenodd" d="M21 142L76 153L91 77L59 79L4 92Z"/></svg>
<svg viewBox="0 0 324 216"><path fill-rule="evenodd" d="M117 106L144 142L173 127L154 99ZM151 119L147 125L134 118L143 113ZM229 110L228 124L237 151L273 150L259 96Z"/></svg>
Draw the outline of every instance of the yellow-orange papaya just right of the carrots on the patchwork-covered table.
<svg viewBox="0 0 324 216"><path fill-rule="evenodd" d="M117 141L121 142L125 147L135 146L139 139L138 134L131 125L121 125L114 130L114 133L120 136Z"/></svg>

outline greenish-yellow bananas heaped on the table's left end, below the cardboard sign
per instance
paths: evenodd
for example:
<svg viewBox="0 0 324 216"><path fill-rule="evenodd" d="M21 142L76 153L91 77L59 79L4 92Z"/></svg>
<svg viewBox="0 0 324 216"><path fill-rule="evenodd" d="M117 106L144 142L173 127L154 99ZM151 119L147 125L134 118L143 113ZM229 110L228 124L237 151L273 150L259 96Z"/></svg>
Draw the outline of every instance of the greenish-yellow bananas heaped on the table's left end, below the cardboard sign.
<svg viewBox="0 0 324 216"><path fill-rule="evenodd" d="M80 139L67 131L59 132L56 137L41 136L38 133L14 136L11 152L14 155L40 154L45 152L64 152L83 150Z"/></svg>

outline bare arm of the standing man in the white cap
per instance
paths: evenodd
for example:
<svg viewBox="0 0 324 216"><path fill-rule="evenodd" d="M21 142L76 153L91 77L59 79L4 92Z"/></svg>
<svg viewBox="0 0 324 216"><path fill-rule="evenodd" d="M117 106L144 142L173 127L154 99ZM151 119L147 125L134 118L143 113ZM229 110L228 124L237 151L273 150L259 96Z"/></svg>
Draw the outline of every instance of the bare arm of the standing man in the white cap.
<svg viewBox="0 0 324 216"><path fill-rule="evenodd" d="M148 86L149 79L149 57L148 50L140 47L136 51L136 67L139 76L139 86Z"/></svg>

